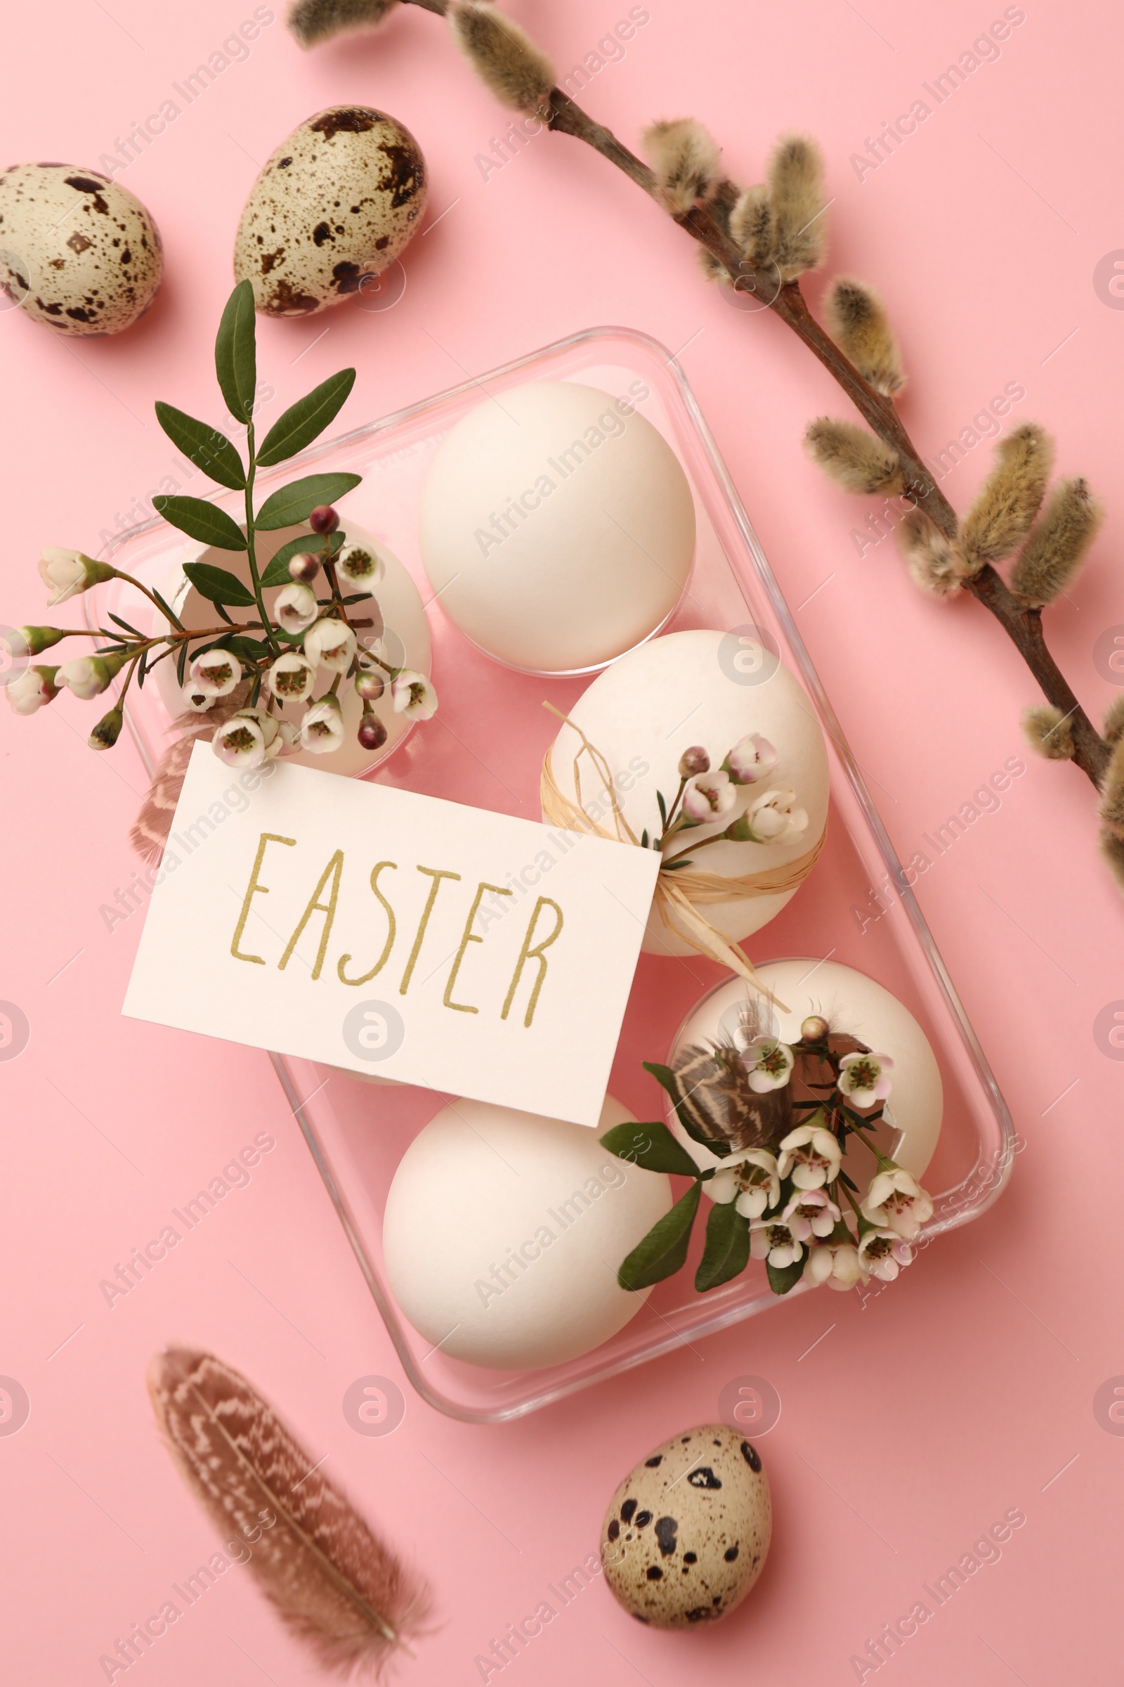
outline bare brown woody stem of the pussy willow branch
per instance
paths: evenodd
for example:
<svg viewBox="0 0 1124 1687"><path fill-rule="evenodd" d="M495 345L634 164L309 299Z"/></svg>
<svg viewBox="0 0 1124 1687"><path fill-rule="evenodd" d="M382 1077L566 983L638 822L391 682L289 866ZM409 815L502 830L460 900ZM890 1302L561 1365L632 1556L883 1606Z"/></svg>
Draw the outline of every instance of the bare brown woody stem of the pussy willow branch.
<svg viewBox="0 0 1124 1687"><path fill-rule="evenodd" d="M404 3L421 7L425 12L433 12L438 17L443 17L447 10L445 0L404 0ZM635 182L637 187L662 208L659 186L647 164L622 145L612 130L605 128L603 123L597 123L583 111L561 88L551 89L546 127L559 135L571 135L575 140L583 140L586 147L600 152L603 159L608 159L629 181ZM898 454L905 479L905 496L917 508L923 509L947 538L954 538L959 526L955 511L934 482L929 469L922 464L920 454L907 434L893 402L875 391L831 336L824 332L807 307L800 283L787 282L777 288L775 270L770 277L768 270L755 272L750 268L741 250L701 206L694 206L674 221L721 263L740 292L758 297L763 307L779 315L804 341L807 349L819 358L863 420ZM964 589L991 611L1035 675L1046 700L1067 717L1073 734L1073 761L1099 790L1109 764L1109 746L1077 702L1068 680L1050 655L1041 631L1041 611L1028 609L1021 604L989 563L979 574L966 579Z"/></svg>

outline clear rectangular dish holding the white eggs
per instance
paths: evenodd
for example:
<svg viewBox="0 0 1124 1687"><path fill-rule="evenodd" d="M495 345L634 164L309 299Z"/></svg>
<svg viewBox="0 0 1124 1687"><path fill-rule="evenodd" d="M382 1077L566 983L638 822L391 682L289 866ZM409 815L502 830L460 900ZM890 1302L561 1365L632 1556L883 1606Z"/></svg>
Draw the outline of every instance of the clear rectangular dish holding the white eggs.
<svg viewBox="0 0 1124 1687"><path fill-rule="evenodd" d="M536 678L487 658L452 626L440 601L433 601L418 555L420 491L438 444L482 396L531 380L576 380L610 391L625 391L630 381L640 380L650 388L642 413L677 454L698 523L688 587L661 633L758 629L767 643L775 641L782 660L800 678L827 741L831 815L822 855L789 906L748 938L745 948L757 965L782 957L809 957L809 968L826 958L841 962L873 977L910 1009L929 1036L944 1081L944 1125L925 1174L935 1213L923 1238L969 1223L998 1198L1009 1176L1011 1118L691 388L674 358L656 341L610 327L573 334L260 476L265 494L313 464L320 471L362 474L362 484L340 499L344 525L351 518L386 545L425 599L440 710L369 776L479 808L539 818L539 768L558 727L541 705L548 700L566 712L590 676ZM238 494L216 501L238 516ZM108 560L147 584L160 584L169 558L182 550L184 536L155 520L123 535ZM101 617L108 607L136 626L145 624L138 619L143 599L131 587L111 582L91 597L89 614ZM153 685L131 693L126 717L152 771L170 727ZM851 909L866 904L871 891L878 891L888 913L861 931ZM642 1061L667 1058L688 1012L723 977L728 973L696 955L682 962L640 957L610 1080L610 1091L637 1118L664 1117L662 1091L642 1070ZM281 1054L273 1054L271 1061L409 1382L430 1405L452 1417L467 1422L519 1417L784 1304L768 1291L763 1265L757 1262L725 1287L696 1294L693 1275L701 1245L696 1233L688 1267L659 1284L637 1316L591 1353L514 1373L452 1360L431 1348L399 1312L386 1282L381 1247L394 1169L448 1098L415 1086L374 1085ZM934 1255L923 1269L934 1269ZM799 1284L794 1292L806 1292L806 1285Z"/></svg>

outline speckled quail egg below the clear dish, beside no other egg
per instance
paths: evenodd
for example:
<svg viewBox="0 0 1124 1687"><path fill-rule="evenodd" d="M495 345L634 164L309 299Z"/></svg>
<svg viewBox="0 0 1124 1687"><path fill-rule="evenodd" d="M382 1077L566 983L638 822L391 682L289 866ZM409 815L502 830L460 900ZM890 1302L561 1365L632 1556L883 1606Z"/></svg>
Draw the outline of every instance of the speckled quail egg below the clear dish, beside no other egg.
<svg viewBox="0 0 1124 1687"><path fill-rule="evenodd" d="M757 1447L703 1424L656 1447L622 1481L602 1525L613 1598L652 1628L728 1616L762 1574L772 1533Z"/></svg>

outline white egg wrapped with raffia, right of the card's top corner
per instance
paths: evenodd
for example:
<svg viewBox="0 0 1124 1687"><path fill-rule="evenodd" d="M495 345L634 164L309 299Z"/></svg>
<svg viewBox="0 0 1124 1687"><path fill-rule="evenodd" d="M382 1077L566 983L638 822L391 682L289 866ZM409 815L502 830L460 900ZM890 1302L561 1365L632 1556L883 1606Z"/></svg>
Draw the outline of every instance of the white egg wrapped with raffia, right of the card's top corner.
<svg viewBox="0 0 1124 1687"><path fill-rule="evenodd" d="M674 877L691 897L693 874L716 879L698 911L731 943L760 931L795 896L827 823L827 751L807 693L767 644L736 629L654 638L598 675L570 709L568 722L549 752L544 818L565 823L563 808L571 803L617 835L615 803L632 835L647 835L650 844L664 830L661 796L671 813L679 761L684 751L699 749L709 771L691 781L684 801L708 818L672 832L664 862L679 857L689 865L661 874L661 886ZM723 771L726 761L731 773ZM551 779L561 803L549 800ZM711 815L693 786L716 791L721 811ZM721 837L740 820L752 837ZM728 899L723 879L731 881ZM694 953L681 933L681 921L657 894L645 953Z"/></svg>

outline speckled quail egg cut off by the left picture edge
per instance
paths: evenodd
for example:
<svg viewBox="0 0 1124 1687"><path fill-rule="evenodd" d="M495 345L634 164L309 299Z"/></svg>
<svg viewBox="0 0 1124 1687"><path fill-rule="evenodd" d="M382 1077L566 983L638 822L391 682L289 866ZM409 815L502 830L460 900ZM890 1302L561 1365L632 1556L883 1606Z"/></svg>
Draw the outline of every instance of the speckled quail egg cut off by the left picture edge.
<svg viewBox="0 0 1124 1687"><path fill-rule="evenodd" d="M57 334L120 334L157 297L160 234L140 199L72 164L0 174L0 288Z"/></svg>

